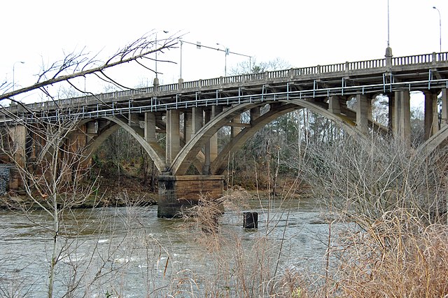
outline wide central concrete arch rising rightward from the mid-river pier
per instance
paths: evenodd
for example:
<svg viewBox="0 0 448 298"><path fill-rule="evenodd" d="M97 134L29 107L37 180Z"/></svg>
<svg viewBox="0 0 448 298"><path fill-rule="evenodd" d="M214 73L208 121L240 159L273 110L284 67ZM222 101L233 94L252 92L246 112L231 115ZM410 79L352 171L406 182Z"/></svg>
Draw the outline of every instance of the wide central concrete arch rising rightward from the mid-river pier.
<svg viewBox="0 0 448 298"><path fill-rule="evenodd" d="M299 108L309 108L310 111L323 115L323 117L336 122L337 125L342 127L342 129L344 129L352 136L355 136L358 139L366 139L365 135L362 134L358 129L356 129L356 124L351 119L345 117L344 115L330 113L327 109L322 108L321 106L317 106L316 104L313 104L312 102L306 101L304 99L264 101L257 104L241 104L239 106L229 108L223 113L217 115L216 118L208 122L206 125L204 125L204 127L202 127L202 129L200 129L200 131L195 134L193 139L191 139L190 142L182 148L182 150L176 156L176 159L174 159L172 166L169 167L169 171L173 175L183 175L186 172L186 169L188 169L188 164L185 161L190 160L192 157L194 157L197 152L200 151L200 148L204 146L204 143L207 142L207 140L211 136L216 134L216 132L218 132L221 127L230 122L232 118L235 118L235 116L243 113L244 111L248 111L250 108L262 106L265 104L273 104L276 102L283 102L284 105L272 108L272 111L261 115L260 118L255 120L252 123L251 128L243 129L243 131L241 131L237 135L237 137L235 137L235 139L233 139L232 142L230 142L228 146L226 146L224 150L221 151L222 155L220 153L217 159L215 159L215 161L211 165L212 173L221 173L225 155L228 154L228 152L230 152L231 150L235 150L236 148L241 147L250 136L253 136L253 134L258 131L258 129L271 122L272 120L278 118L279 116L288 113L288 111L293 111Z"/></svg>

